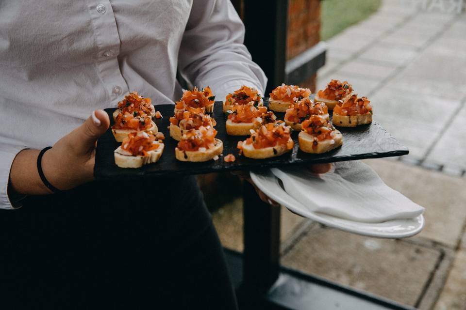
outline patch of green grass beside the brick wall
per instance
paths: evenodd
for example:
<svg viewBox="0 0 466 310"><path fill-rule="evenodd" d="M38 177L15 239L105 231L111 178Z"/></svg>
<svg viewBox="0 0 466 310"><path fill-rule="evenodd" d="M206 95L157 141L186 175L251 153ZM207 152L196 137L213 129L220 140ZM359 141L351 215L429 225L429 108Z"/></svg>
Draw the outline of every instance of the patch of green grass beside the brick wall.
<svg viewBox="0 0 466 310"><path fill-rule="evenodd" d="M326 41L377 11L382 0L323 0L320 39Z"/></svg>

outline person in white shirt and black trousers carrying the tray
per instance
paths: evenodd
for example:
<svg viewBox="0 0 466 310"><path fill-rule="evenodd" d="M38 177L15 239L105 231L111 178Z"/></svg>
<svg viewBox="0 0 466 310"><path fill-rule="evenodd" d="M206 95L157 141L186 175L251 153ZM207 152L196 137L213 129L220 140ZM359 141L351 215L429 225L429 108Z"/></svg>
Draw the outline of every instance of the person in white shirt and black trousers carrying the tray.
<svg viewBox="0 0 466 310"><path fill-rule="evenodd" d="M229 0L1 1L2 304L236 309L194 177L95 181L93 168L102 109L125 93L173 103L177 74L217 98L263 93L243 38ZM53 187L37 165L49 145Z"/></svg>

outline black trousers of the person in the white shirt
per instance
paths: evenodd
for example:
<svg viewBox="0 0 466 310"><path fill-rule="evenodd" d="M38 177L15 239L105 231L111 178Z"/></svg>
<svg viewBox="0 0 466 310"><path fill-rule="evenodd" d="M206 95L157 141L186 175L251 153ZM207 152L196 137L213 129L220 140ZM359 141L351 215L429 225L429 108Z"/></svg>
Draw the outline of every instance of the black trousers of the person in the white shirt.
<svg viewBox="0 0 466 310"><path fill-rule="evenodd" d="M194 177L93 182L0 212L2 309L236 309Z"/></svg>

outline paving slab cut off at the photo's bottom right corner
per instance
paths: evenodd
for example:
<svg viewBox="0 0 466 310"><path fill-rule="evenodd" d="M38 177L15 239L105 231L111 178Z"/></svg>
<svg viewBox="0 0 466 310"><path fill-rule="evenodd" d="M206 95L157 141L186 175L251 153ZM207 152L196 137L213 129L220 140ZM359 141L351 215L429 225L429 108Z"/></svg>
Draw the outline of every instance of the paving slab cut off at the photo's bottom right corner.
<svg viewBox="0 0 466 310"><path fill-rule="evenodd" d="M466 249L458 251L434 310L466 309Z"/></svg>

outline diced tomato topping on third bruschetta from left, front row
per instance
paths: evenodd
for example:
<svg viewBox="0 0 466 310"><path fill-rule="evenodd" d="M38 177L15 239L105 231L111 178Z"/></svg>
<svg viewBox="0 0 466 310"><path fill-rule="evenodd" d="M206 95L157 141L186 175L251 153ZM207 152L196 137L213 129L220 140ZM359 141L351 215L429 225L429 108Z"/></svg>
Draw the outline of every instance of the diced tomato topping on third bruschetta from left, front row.
<svg viewBox="0 0 466 310"><path fill-rule="evenodd" d="M250 138L243 143L252 144L255 149L285 145L290 150L294 145L293 140L290 138L290 128L283 121L268 123L255 131L252 130ZM238 142L238 149L243 148L243 143Z"/></svg>

